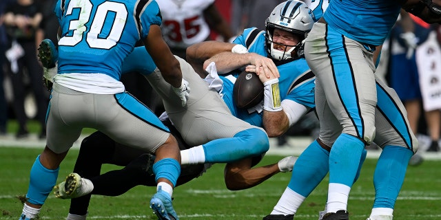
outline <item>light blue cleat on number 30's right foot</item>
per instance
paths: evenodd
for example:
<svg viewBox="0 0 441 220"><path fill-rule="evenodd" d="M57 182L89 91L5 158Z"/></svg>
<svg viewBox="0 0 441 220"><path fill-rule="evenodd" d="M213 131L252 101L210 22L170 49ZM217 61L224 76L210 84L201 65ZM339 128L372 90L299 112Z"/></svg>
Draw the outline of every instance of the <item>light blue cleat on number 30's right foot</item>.
<svg viewBox="0 0 441 220"><path fill-rule="evenodd" d="M159 220L179 220L178 214L173 209L172 197L158 187L158 192L153 195L150 200L150 208L153 210L153 214L156 214Z"/></svg>

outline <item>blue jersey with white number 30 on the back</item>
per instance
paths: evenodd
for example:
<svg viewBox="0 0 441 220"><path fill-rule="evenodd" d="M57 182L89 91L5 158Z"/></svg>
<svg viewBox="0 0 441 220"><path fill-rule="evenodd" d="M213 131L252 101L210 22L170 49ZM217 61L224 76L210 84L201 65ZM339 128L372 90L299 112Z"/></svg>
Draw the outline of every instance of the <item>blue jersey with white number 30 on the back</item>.
<svg viewBox="0 0 441 220"><path fill-rule="evenodd" d="M59 74L101 73L121 78L121 64L150 25L161 25L154 0L59 0Z"/></svg>

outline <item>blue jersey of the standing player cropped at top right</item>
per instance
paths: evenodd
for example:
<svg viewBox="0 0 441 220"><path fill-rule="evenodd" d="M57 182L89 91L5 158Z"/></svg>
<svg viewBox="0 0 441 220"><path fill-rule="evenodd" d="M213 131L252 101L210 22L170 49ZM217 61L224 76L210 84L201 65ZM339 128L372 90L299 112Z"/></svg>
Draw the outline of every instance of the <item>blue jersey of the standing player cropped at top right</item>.
<svg viewBox="0 0 441 220"><path fill-rule="evenodd" d="M329 26L350 39L382 45L400 9L401 6L391 0L331 1L323 17Z"/></svg>

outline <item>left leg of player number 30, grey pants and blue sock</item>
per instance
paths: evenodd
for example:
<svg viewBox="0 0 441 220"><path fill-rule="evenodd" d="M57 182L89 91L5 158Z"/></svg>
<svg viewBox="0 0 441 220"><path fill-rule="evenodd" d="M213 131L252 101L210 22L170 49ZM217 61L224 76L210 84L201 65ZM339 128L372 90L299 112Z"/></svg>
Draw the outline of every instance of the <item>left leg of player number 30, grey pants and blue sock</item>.
<svg viewBox="0 0 441 220"><path fill-rule="evenodd" d="M63 115L63 119L64 116L74 117L73 113L69 115L63 113L66 112L65 109L75 109L75 106L79 105L75 100L72 100L70 94L65 93L62 89L52 91L50 109L48 109L46 147L30 170L30 184L26 194L27 201L23 207L23 219L36 217L56 184L59 164L81 133L81 126L68 126L64 120L61 120L61 115Z"/></svg>

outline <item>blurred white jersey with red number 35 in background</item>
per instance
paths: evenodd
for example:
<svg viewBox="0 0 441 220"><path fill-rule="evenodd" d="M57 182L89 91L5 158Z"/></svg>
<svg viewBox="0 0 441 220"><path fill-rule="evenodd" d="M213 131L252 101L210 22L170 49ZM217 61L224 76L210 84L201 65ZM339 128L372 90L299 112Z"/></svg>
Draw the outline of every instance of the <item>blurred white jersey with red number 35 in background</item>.
<svg viewBox="0 0 441 220"><path fill-rule="evenodd" d="M205 41L210 33L203 11L214 0L160 0L163 24L161 29L170 47L185 49L189 45Z"/></svg>

